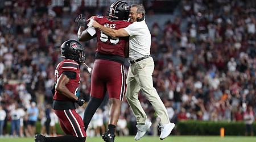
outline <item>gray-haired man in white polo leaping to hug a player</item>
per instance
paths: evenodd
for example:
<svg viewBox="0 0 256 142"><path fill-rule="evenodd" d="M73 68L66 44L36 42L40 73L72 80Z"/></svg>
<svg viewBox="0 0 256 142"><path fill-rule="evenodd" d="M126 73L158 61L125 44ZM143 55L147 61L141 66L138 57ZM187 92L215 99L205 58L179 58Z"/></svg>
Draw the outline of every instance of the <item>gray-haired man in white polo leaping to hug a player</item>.
<svg viewBox="0 0 256 142"><path fill-rule="evenodd" d="M129 14L130 22L132 24L128 27L114 30L112 28L104 27L97 22L93 22L92 26L100 29L106 35L111 37L129 36L129 60L131 64L126 81L126 99L133 110L138 123L138 132L134 139L141 139L152 124L151 122L146 121L147 115L138 99L138 92L139 90L142 90L161 120L160 140L163 140L170 135L175 124L170 123L166 107L153 86L152 73L155 65L154 60L150 56L151 34L145 22L144 15L144 7L142 5L134 4L131 5Z"/></svg>

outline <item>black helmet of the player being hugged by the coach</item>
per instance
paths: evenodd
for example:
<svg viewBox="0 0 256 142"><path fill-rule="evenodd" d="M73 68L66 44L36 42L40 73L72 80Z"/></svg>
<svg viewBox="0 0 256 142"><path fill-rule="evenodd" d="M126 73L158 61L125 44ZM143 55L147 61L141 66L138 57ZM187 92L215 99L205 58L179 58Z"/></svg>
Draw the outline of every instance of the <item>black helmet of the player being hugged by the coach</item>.
<svg viewBox="0 0 256 142"><path fill-rule="evenodd" d="M130 6L125 1L114 2L109 9L109 16L116 20L127 20L129 18Z"/></svg>

